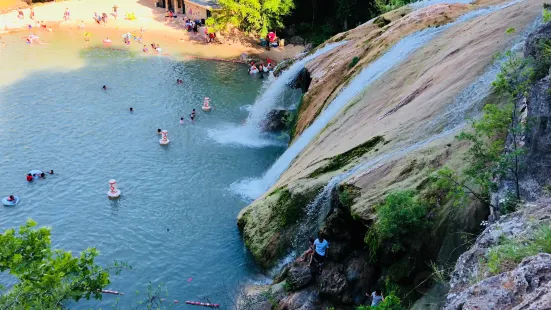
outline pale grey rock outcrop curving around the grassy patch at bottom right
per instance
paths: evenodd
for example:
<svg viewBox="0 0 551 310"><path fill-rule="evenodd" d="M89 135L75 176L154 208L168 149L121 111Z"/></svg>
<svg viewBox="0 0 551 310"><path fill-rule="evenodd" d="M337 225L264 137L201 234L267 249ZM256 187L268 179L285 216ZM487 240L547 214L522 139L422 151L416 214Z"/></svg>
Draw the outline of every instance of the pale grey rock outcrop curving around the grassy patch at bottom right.
<svg viewBox="0 0 551 310"><path fill-rule="evenodd" d="M550 223L551 200L540 199L487 227L457 261L444 309L550 309L551 255L527 257L495 276L482 263L504 237L530 239L538 227Z"/></svg>

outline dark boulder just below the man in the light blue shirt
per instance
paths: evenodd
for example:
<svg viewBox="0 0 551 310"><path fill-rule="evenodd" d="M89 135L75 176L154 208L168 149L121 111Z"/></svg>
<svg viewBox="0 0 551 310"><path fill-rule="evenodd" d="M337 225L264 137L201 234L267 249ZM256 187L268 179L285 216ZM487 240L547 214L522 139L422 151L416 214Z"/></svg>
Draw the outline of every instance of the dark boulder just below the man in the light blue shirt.
<svg viewBox="0 0 551 310"><path fill-rule="evenodd" d="M348 294L348 282L344 272L344 265L327 263L318 278L320 295L334 302L351 303L352 298Z"/></svg>

